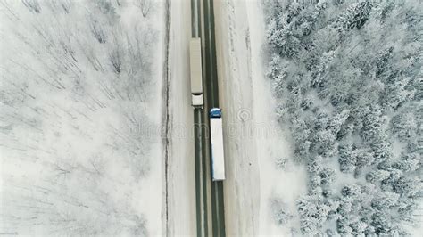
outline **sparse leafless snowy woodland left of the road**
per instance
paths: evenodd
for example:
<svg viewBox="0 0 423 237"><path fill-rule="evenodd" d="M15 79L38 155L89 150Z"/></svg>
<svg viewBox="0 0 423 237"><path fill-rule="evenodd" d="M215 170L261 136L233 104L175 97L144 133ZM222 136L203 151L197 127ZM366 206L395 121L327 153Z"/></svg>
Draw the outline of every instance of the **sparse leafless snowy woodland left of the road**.
<svg viewBox="0 0 423 237"><path fill-rule="evenodd" d="M162 18L152 0L0 1L1 234L161 233Z"/></svg>

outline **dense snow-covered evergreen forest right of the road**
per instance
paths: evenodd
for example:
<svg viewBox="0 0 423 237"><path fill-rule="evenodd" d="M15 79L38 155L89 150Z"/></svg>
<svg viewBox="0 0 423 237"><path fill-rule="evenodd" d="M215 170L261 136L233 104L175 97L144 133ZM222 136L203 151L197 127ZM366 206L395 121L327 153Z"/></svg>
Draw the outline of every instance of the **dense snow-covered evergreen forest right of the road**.
<svg viewBox="0 0 423 237"><path fill-rule="evenodd" d="M279 0L265 17L278 123L308 173L296 211L272 207L275 221L299 218L292 231L306 235L409 233L423 195L423 3Z"/></svg>

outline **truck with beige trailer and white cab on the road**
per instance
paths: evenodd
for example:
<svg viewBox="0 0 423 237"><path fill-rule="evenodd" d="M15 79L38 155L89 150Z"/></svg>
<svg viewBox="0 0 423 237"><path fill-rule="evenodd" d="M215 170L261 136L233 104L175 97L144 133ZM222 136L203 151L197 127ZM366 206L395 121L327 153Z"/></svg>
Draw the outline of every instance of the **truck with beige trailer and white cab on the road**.
<svg viewBox="0 0 423 237"><path fill-rule="evenodd" d="M201 39L191 38L189 42L189 67L191 77L192 105L203 107L203 69L201 58Z"/></svg>

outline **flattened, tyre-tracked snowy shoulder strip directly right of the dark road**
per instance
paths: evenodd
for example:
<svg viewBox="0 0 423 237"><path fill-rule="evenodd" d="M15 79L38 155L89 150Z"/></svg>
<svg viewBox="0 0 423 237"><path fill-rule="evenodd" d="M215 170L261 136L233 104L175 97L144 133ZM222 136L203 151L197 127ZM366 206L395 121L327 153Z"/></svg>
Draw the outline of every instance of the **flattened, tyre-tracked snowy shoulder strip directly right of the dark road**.
<svg viewBox="0 0 423 237"><path fill-rule="evenodd" d="M217 1L215 14L220 106L225 123L226 229L228 235L254 235L258 224L254 218L258 217L260 204L260 174L255 138L243 134L253 125L245 3Z"/></svg>

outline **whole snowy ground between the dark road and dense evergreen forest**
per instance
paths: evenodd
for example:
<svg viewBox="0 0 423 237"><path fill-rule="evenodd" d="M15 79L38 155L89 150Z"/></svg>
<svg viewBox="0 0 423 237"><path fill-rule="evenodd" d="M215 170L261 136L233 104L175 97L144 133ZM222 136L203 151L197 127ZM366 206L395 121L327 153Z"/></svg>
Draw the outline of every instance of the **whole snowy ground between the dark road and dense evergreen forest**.
<svg viewBox="0 0 423 237"><path fill-rule="evenodd" d="M264 21L260 1L216 2L220 104L226 123L225 213L228 235L288 235L272 205L306 190L305 171L292 164L290 145L272 116L274 102L263 78ZM277 162L286 162L277 168ZM278 197L278 199L276 199ZM299 225L298 220L290 224Z"/></svg>

